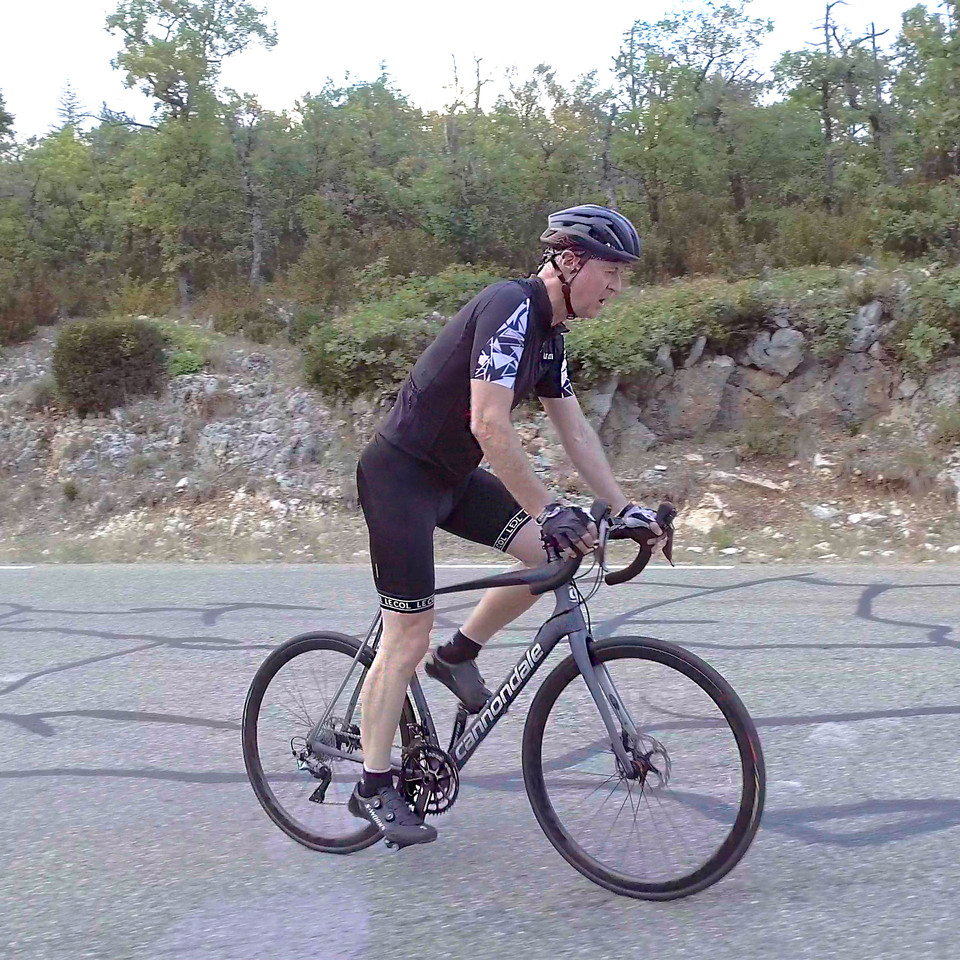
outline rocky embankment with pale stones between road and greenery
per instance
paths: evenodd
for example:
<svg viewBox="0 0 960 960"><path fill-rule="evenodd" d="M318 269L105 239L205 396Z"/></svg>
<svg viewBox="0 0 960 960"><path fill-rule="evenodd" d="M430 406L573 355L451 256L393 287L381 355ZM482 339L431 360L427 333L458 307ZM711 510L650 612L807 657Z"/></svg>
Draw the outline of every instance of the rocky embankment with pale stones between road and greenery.
<svg viewBox="0 0 960 960"><path fill-rule="evenodd" d="M905 371L887 329L867 304L828 361L778 318L734 356L701 338L580 399L628 492L683 506L681 560L960 559L960 358ZM296 348L231 340L162 398L81 420L48 402L56 332L0 358L0 559L366 556L372 402L332 406ZM517 420L538 472L588 499L542 413Z"/></svg>

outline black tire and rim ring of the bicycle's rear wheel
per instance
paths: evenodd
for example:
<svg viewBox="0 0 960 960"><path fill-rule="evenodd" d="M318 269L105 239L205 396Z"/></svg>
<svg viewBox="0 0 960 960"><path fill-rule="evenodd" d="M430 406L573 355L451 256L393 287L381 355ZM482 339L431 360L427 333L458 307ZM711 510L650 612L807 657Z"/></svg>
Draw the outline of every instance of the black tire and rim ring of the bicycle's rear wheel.
<svg viewBox="0 0 960 960"><path fill-rule="evenodd" d="M360 642L354 637L329 631L304 633L292 637L277 647L276 650L273 650L260 665L250 684L243 707L243 762L247 770L247 777L250 780L250 785L253 787L253 792L257 800L270 819L286 833L287 836L292 837L298 843L309 847L311 850L317 850L322 853L355 853L358 850L363 850L376 843L380 839L380 832L373 824L354 819L352 823L357 825L357 829L354 831L347 832L342 836L321 835L308 829L295 815L289 812L277 798L264 773L259 749L258 720L263 698L271 681L276 677L277 673L295 657L312 651L327 651L335 654L343 654L343 674L337 678L339 682L343 676L346 675L349 660L352 660L356 656L359 646ZM360 654L360 663L364 666L369 666L372 660L373 658L369 648L365 648ZM355 688L348 687L341 696L348 697L351 689ZM413 723L415 723L415 715L408 696L404 699L400 718L400 737L404 746L406 746L410 740L408 724ZM350 761L340 762L350 763ZM293 763L292 759L291 763ZM358 765L356 768L358 779L360 769Z"/></svg>

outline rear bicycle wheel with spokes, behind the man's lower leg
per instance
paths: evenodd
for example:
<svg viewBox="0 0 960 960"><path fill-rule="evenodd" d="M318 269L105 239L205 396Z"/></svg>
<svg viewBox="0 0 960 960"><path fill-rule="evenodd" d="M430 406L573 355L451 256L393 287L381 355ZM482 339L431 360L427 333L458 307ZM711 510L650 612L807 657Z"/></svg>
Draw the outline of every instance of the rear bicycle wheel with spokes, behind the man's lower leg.
<svg viewBox="0 0 960 960"><path fill-rule="evenodd" d="M361 668L372 662L369 648L360 654L318 738L356 762L314 753L307 742L359 646L358 640L340 633L306 633L288 640L260 665L243 708L243 761L257 799L284 833L324 853L353 853L380 839L372 824L347 810L363 754L359 707L346 714ZM395 752L411 742L415 720L407 697Z"/></svg>

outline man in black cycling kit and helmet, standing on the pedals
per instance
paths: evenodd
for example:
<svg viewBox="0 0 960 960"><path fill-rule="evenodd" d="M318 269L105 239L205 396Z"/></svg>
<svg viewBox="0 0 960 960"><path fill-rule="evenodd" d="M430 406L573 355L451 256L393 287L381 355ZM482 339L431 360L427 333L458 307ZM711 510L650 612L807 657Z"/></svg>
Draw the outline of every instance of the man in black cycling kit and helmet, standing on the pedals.
<svg viewBox="0 0 960 960"><path fill-rule="evenodd" d="M620 292L640 238L621 214L583 204L551 214L540 239L546 250L535 276L487 287L427 347L357 468L383 635L361 694L363 776L348 807L401 846L437 835L390 772L407 685L430 647L434 530L496 547L526 566L544 562L543 540L585 554L597 535L583 510L554 500L534 473L513 408L535 394L596 496L661 535L655 513L629 503L614 479L574 396L563 342L565 321L596 316ZM494 473L479 469L484 456ZM433 652L427 673L478 712L490 691L477 654L536 599L524 586L488 591Z"/></svg>

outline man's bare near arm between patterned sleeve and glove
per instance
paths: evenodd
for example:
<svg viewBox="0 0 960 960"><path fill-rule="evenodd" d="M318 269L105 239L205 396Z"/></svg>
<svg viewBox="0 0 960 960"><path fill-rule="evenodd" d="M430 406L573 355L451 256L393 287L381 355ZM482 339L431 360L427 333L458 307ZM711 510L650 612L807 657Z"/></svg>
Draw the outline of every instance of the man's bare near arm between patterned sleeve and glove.
<svg viewBox="0 0 960 960"><path fill-rule="evenodd" d="M536 517L553 497L523 452L510 419L512 402L513 390L508 387L485 380L470 381L470 429L493 472L517 503Z"/></svg>

